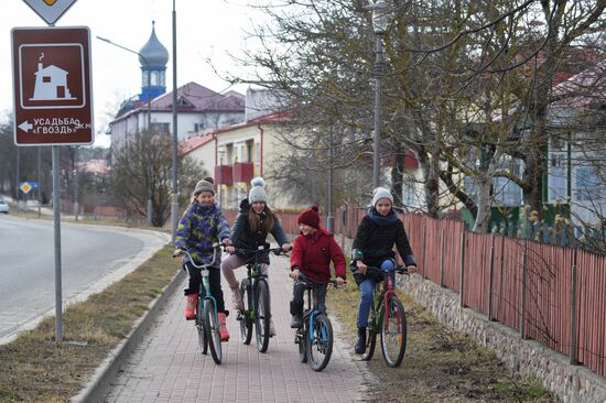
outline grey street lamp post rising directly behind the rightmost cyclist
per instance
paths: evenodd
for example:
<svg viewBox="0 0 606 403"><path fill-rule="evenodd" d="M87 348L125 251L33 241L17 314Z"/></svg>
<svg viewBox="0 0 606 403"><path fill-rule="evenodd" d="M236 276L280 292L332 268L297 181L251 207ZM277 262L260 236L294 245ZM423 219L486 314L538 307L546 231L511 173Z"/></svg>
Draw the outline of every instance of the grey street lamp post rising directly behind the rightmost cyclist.
<svg viewBox="0 0 606 403"><path fill-rule="evenodd" d="M389 23L389 14L387 12L387 3L385 1L375 1L368 6L368 10L372 11L372 29L376 36L375 50L375 141L372 155L372 186L379 186L380 168L381 168L381 76L383 74L383 42L382 36Z"/></svg>

